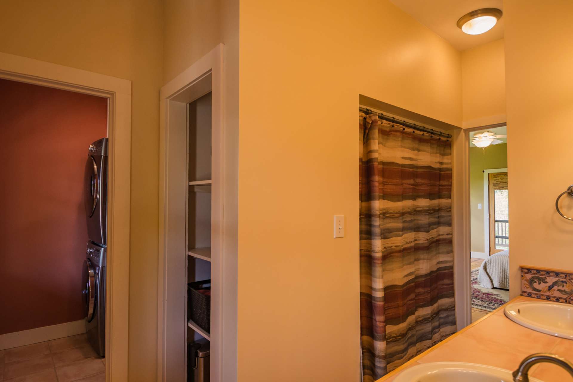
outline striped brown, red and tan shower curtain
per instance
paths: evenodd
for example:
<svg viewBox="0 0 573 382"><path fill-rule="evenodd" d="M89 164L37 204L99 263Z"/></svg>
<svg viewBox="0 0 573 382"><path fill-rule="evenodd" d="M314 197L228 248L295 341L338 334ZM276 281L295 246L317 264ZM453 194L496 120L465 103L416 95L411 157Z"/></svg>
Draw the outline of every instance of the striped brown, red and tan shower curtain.
<svg viewBox="0 0 573 382"><path fill-rule="evenodd" d="M450 142L359 116L362 377L456 332Z"/></svg>

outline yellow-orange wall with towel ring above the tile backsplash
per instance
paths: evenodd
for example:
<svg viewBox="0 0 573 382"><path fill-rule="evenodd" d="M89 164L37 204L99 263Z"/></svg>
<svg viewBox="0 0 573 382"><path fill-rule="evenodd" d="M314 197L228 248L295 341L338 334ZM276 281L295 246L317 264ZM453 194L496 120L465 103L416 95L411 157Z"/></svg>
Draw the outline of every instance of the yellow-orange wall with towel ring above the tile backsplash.
<svg viewBox="0 0 573 382"><path fill-rule="evenodd" d="M573 269L573 222L555 198L573 183L573 2L506 0L505 72L510 290L521 288L519 265ZM563 209L573 215L571 198Z"/></svg>

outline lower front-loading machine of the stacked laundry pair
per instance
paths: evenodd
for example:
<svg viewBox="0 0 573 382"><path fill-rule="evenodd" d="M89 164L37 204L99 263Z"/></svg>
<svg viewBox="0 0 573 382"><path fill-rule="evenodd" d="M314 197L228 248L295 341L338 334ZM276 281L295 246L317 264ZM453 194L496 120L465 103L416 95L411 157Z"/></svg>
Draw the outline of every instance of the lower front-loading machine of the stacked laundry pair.
<svg viewBox="0 0 573 382"><path fill-rule="evenodd" d="M82 271L85 329L93 349L105 355L105 247L89 241Z"/></svg>

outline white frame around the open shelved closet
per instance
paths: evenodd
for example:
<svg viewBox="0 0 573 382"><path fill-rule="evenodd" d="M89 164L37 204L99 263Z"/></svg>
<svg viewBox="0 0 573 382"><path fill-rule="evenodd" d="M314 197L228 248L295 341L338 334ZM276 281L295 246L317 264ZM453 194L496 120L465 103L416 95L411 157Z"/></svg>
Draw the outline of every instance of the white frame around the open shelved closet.
<svg viewBox="0 0 573 382"><path fill-rule="evenodd" d="M223 372L223 45L161 88L159 104L159 264L157 380L185 380L187 267L187 104L211 92L210 377ZM228 313L227 313L228 315ZM231 315L232 316L232 315ZM227 316L228 317L228 316ZM236 345L236 344L235 344ZM236 362L236 360L234 361Z"/></svg>

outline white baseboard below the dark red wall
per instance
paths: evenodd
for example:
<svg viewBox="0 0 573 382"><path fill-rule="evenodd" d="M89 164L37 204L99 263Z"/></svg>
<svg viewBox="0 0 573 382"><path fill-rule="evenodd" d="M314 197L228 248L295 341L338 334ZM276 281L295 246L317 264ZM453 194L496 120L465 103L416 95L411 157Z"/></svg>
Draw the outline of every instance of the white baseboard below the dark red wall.
<svg viewBox="0 0 573 382"><path fill-rule="evenodd" d="M55 340L56 338L75 336L81 333L85 333L85 320L64 322L64 324L42 326L42 328L0 334L0 350Z"/></svg>

